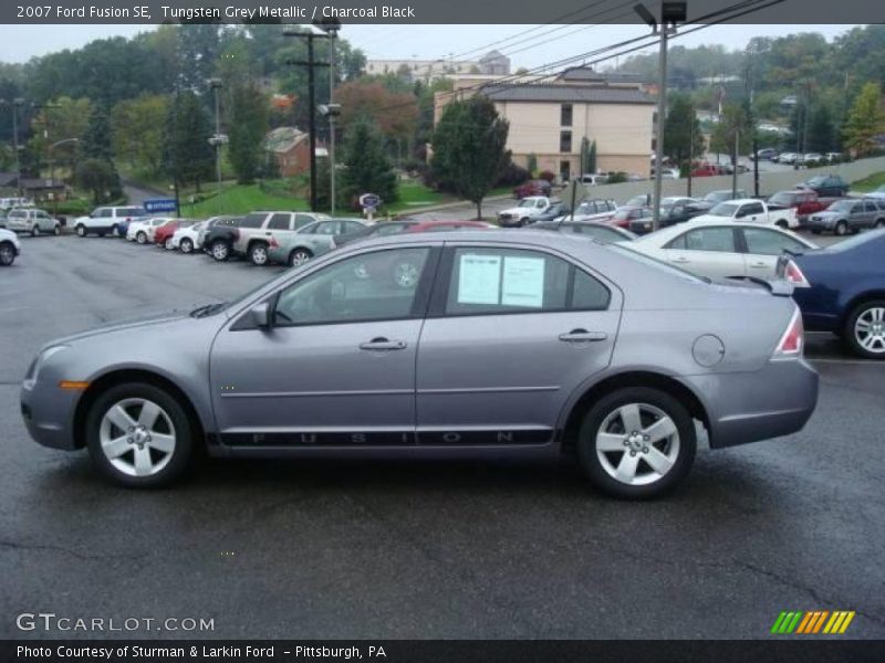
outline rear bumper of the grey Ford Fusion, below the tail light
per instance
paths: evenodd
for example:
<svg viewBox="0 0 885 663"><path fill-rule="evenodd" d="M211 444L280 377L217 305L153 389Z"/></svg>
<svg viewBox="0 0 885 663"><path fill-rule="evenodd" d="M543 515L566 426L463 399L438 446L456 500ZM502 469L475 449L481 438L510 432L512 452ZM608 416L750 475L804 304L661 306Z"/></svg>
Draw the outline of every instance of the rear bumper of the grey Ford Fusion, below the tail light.
<svg viewBox="0 0 885 663"><path fill-rule="evenodd" d="M796 433L818 404L818 371L804 359L772 360L754 372L688 376L683 381L705 401L712 449Z"/></svg>

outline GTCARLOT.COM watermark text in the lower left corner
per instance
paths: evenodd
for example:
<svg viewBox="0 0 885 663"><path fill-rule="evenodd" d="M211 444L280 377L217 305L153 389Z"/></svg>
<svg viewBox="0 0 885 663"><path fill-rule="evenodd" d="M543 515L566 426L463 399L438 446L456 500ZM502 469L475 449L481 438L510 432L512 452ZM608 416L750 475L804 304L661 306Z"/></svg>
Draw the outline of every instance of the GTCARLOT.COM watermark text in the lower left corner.
<svg viewBox="0 0 885 663"><path fill-rule="evenodd" d="M22 612L15 618L19 631L40 631L44 633L81 632L81 633L110 633L110 632L205 632L215 631L215 619L195 617L168 617L157 619L153 617L70 617L54 612Z"/></svg>

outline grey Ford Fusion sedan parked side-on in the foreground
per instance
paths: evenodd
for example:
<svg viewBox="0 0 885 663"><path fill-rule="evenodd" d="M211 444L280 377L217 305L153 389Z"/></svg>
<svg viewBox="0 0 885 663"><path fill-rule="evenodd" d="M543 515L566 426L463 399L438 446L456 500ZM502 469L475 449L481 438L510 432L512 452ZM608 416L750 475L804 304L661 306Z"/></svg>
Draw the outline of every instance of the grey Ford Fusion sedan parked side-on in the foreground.
<svg viewBox="0 0 885 663"><path fill-rule="evenodd" d="M493 235L493 236L492 236ZM355 242L236 302L60 339L34 440L166 485L217 456L575 455L620 497L712 449L794 433L818 375L781 283L712 283L541 231Z"/></svg>

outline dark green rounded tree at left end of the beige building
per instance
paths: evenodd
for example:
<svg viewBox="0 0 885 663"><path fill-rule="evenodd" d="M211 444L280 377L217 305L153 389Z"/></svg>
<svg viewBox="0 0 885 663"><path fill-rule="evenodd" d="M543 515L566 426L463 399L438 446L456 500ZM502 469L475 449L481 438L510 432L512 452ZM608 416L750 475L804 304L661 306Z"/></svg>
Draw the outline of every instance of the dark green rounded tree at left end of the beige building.
<svg viewBox="0 0 885 663"><path fill-rule="evenodd" d="M475 203L478 219L482 199L510 162L509 130L510 124L498 115L494 104L475 96L448 104L434 133L434 177L440 187Z"/></svg>

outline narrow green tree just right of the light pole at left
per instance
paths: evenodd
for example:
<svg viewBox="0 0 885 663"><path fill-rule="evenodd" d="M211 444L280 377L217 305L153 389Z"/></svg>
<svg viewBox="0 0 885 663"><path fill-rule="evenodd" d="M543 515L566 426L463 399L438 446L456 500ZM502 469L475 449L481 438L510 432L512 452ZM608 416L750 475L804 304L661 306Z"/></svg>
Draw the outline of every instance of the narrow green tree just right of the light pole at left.
<svg viewBox="0 0 885 663"><path fill-rule="evenodd" d="M268 133L268 97L254 83L240 83L231 94L228 158L237 181L251 183L260 173Z"/></svg>

